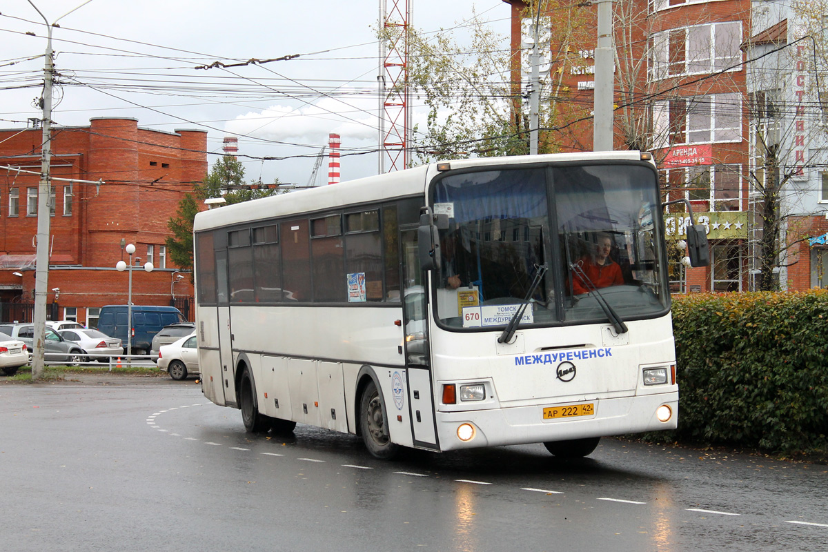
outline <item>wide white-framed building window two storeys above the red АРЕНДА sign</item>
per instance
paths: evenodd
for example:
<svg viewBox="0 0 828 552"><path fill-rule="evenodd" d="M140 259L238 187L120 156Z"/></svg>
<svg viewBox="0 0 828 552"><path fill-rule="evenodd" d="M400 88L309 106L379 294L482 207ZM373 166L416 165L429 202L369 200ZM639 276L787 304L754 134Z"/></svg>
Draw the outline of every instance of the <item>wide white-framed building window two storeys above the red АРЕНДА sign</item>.
<svg viewBox="0 0 828 552"><path fill-rule="evenodd" d="M656 33L650 41L652 80L741 70L742 23L710 23Z"/></svg>

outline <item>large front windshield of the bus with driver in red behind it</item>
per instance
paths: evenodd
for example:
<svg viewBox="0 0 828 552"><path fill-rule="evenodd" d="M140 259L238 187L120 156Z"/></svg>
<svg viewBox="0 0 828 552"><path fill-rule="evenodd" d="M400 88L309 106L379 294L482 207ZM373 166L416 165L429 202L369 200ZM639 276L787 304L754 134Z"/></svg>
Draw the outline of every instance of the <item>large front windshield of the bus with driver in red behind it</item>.
<svg viewBox="0 0 828 552"><path fill-rule="evenodd" d="M432 280L448 328L503 328L526 300L521 327L605 322L608 308L620 319L669 308L652 166L448 174L431 197L449 219Z"/></svg>

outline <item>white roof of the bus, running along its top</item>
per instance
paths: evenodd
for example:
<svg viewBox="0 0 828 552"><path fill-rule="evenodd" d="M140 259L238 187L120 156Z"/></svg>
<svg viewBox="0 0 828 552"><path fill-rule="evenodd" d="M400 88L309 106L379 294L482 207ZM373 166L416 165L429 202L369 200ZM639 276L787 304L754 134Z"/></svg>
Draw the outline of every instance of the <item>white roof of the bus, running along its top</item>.
<svg viewBox="0 0 828 552"><path fill-rule="evenodd" d="M445 161L451 169L469 167L519 165L525 163L567 161L640 161L638 151L595 151L580 153L553 153L540 156L475 157ZM318 186L291 194L273 195L267 198L225 205L195 215L193 230L198 232L255 220L291 216L311 212L323 212L349 204L363 204L385 199L425 194L426 183L438 174L437 163L399 170L384 175L348 180L335 185Z"/></svg>

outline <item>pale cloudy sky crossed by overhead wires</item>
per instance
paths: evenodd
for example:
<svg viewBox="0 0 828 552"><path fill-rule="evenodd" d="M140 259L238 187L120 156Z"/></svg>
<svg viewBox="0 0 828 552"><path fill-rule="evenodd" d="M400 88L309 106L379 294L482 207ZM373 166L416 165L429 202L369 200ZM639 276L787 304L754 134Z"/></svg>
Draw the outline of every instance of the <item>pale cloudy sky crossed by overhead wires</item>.
<svg viewBox="0 0 828 552"><path fill-rule="evenodd" d="M210 166L223 137L241 135L239 161L247 180L296 185L309 183L315 157L336 132L342 137L342 180L377 174L378 0L84 2L2 2L0 128L25 127L29 118L42 116L34 99L41 95L46 27L34 4L60 25L52 29L63 83L51 117L57 125L129 117L140 127L167 132L205 130ZM503 0L409 2L410 23L420 31L453 29L474 10L508 48L510 7ZM196 69L289 55L298 57ZM425 113L414 99L414 122L422 126ZM266 156L279 159L261 159ZM316 184L325 184L327 162L325 157Z"/></svg>

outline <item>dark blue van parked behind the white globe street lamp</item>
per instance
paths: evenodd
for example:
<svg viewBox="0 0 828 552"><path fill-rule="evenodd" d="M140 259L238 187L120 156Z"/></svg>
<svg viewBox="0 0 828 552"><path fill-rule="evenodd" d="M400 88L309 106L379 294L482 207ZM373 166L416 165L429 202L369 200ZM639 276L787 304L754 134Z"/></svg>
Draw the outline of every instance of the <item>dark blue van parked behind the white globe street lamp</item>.
<svg viewBox="0 0 828 552"><path fill-rule="evenodd" d="M127 353L128 305L105 305L101 308L98 329L104 334L119 338L123 353ZM132 354L147 354L152 348L152 338L166 325L186 322L184 314L176 307L132 305Z"/></svg>

